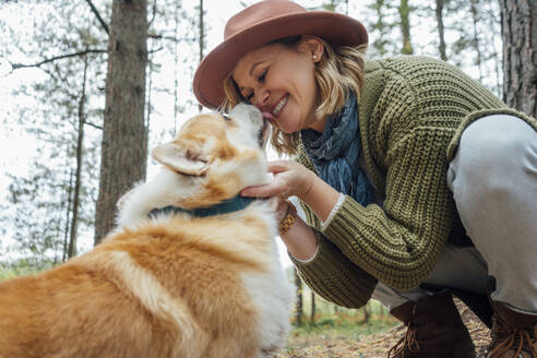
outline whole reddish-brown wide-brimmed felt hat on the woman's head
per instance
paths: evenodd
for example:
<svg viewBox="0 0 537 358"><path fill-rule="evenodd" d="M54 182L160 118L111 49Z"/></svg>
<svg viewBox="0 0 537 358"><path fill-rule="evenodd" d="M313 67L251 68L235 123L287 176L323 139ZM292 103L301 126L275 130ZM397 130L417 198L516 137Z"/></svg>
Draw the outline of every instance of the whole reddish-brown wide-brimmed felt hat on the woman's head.
<svg viewBox="0 0 537 358"><path fill-rule="evenodd" d="M308 11L286 0L260 1L228 20L224 41L195 71L195 97L205 107L219 107L224 100L224 80L242 56L275 39L297 35L318 36L333 45L357 46L368 41L366 27L344 14Z"/></svg>

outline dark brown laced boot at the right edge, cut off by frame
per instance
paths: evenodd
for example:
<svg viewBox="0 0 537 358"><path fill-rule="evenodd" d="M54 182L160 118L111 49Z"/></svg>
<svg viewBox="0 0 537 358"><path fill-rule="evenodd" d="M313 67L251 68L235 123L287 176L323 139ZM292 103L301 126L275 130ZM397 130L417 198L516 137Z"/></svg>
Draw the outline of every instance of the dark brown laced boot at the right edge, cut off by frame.
<svg viewBox="0 0 537 358"><path fill-rule="evenodd" d="M492 301L492 342L487 358L537 358L537 315Z"/></svg>

